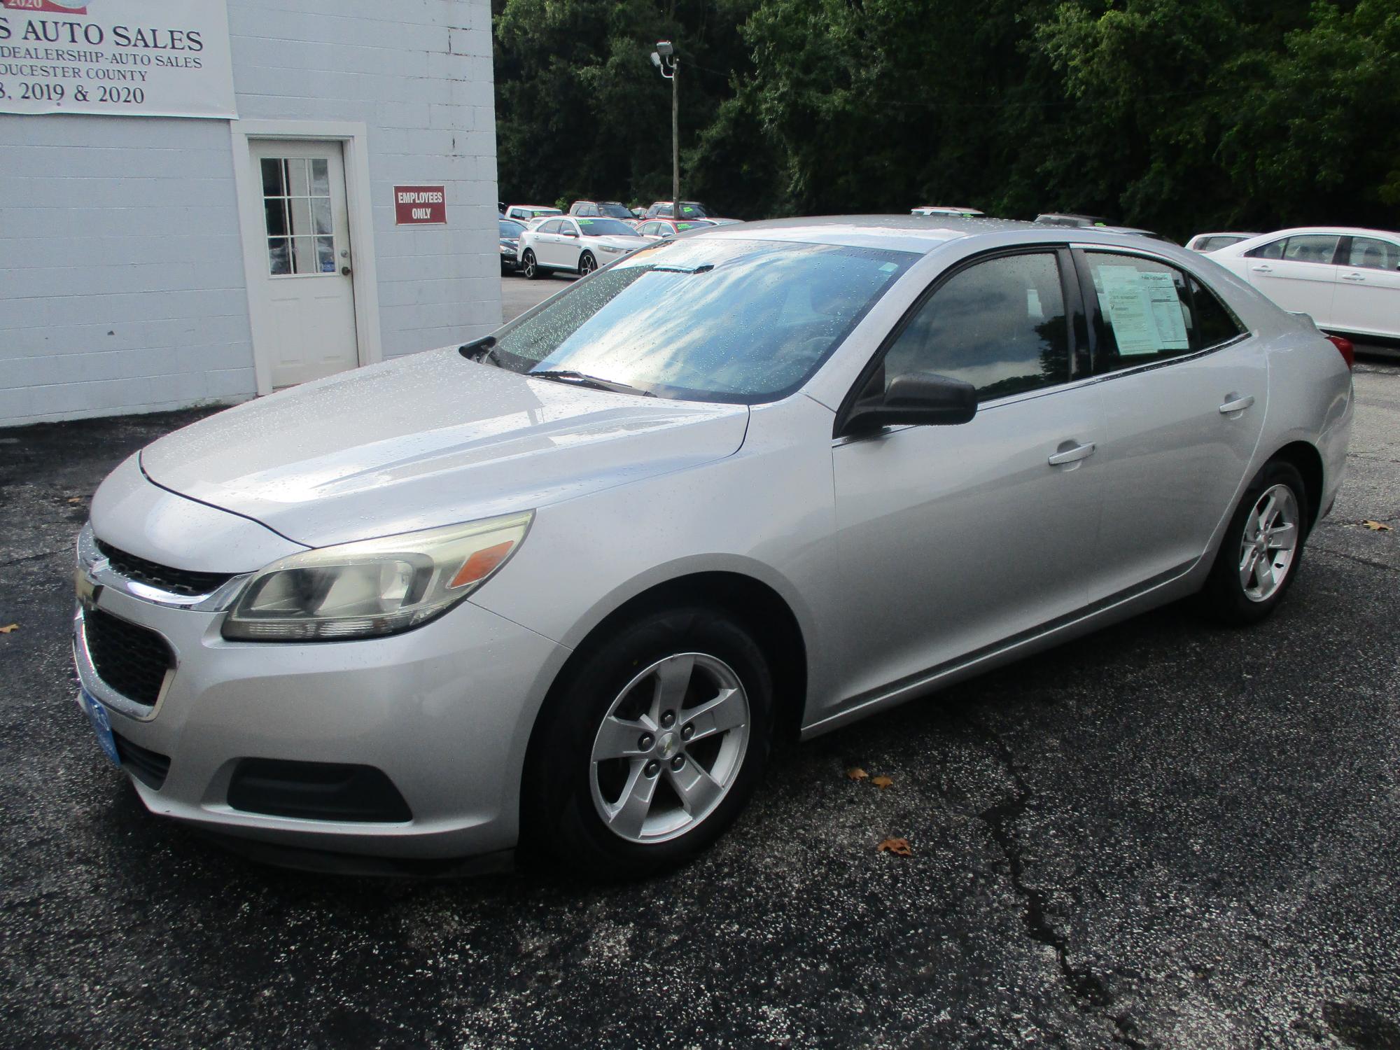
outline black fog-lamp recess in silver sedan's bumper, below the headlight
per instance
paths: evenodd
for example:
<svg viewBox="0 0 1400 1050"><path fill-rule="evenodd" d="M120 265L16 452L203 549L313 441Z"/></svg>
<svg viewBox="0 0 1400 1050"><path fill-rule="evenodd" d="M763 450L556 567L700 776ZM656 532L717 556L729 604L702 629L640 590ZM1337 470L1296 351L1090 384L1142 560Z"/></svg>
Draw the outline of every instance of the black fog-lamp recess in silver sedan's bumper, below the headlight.
<svg viewBox="0 0 1400 1050"><path fill-rule="evenodd" d="M228 805L248 813L308 820L413 819L393 781L374 766L241 759L228 783Z"/></svg>

